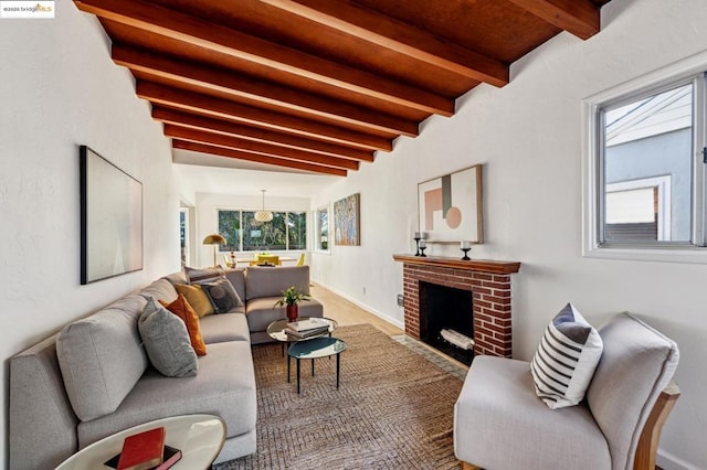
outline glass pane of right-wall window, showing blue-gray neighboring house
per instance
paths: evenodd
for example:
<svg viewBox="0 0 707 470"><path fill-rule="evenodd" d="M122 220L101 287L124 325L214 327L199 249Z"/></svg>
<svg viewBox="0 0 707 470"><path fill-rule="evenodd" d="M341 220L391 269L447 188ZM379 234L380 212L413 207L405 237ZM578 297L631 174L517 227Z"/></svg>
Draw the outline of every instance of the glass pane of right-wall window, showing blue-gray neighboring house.
<svg viewBox="0 0 707 470"><path fill-rule="evenodd" d="M602 113L603 241L689 242L693 85Z"/></svg>

